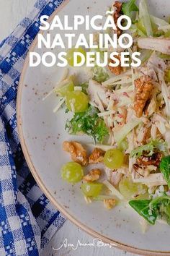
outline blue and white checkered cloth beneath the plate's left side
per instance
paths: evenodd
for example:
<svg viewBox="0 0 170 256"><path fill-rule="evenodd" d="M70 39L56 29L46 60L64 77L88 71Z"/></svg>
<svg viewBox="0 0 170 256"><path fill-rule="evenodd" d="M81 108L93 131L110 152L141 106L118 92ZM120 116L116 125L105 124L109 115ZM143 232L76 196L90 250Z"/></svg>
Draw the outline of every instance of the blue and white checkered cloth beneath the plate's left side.
<svg viewBox="0 0 170 256"><path fill-rule="evenodd" d="M0 256L38 255L64 221L27 167L16 119L19 76L39 31L40 16L52 14L62 1L38 0L30 15L0 44Z"/></svg>

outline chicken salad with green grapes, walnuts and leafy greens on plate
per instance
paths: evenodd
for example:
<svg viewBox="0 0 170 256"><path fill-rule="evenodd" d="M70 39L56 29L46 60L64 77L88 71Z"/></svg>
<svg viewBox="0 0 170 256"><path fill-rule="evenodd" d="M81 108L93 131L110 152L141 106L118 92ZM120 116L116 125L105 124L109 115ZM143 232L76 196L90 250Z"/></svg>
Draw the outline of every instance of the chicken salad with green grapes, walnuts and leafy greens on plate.
<svg viewBox="0 0 170 256"><path fill-rule="evenodd" d="M135 0L115 1L110 10L115 23L122 14L131 18L128 33L134 43L128 51L139 51L142 64L136 68L95 64L86 68L84 82L69 75L68 69L64 72L50 92L59 98L53 111L66 106L66 115L68 111L73 115L66 121L68 133L88 135L93 143L63 142L71 161L62 166L61 176L66 182L81 182L88 203L100 200L112 209L128 202L148 223L170 224L170 22L149 14L146 0L138 6ZM122 31L117 27L107 33ZM70 66L74 51L86 54L84 48L69 50ZM102 58L106 50L97 51Z"/></svg>

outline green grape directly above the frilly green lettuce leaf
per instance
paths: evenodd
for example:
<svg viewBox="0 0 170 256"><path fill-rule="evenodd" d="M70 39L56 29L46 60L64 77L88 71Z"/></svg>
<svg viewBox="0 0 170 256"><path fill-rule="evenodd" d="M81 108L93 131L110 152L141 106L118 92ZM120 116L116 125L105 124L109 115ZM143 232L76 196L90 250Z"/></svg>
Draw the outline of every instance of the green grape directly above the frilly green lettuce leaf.
<svg viewBox="0 0 170 256"><path fill-rule="evenodd" d="M74 113L86 111L88 103L88 96L80 90L66 93L66 106Z"/></svg>

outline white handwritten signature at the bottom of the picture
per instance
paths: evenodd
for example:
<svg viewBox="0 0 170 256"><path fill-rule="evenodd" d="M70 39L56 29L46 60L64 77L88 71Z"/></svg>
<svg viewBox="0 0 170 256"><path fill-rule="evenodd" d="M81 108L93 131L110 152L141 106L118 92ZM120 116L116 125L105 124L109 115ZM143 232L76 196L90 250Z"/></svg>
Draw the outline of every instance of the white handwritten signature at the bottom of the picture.
<svg viewBox="0 0 170 256"><path fill-rule="evenodd" d="M109 247L109 248L112 248L115 246L116 246L116 244L104 243L104 242L102 242L102 240L97 239L97 238L93 239L92 242L89 242L89 243L83 243L80 240L78 240L75 244L68 243L68 239L66 238L66 239L64 239L64 241L60 247L53 248L53 250L58 251L59 249L68 248L68 247L72 248L73 250L76 250L76 249L78 249L78 247Z"/></svg>

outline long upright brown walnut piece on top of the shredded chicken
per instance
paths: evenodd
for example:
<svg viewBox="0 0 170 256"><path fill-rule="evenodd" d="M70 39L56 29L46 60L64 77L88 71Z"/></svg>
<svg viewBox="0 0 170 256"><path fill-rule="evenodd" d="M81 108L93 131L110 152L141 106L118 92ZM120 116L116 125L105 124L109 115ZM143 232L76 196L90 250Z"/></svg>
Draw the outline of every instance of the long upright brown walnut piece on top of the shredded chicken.
<svg viewBox="0 0 170 256"><path fill-rule="evenodd" d="M151 98L153 83L148 76L142 76L135 80L135 101L134 108L136 116L140 117L143 114L143 108L146 102Z"/></svg>

